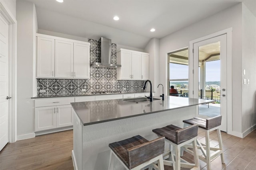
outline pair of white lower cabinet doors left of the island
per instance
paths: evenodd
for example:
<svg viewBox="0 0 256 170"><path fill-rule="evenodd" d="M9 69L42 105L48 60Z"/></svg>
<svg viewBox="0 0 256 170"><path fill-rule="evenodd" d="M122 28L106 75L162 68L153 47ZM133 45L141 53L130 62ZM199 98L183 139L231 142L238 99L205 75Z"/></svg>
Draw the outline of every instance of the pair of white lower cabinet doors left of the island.
<svg viewBox="0 0 256 170"><path fill-rule="evenodd" d="M35 108L35 131L44 131L73 125L72 106L46 106Z"/></svg>

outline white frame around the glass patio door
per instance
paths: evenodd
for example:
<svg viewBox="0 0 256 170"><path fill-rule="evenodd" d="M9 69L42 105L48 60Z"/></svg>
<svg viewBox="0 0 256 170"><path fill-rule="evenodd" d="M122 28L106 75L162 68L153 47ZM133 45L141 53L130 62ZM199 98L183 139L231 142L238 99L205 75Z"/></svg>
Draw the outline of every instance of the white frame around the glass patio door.
<svg viewBox="0 0 256 170"><path fill-rule="evenodd" d="M227 133L231 135L235 135L232 132L232 27L228 29L224 29L222 31L218 31L216 33L212 33L210 35L206 35L204 37L200 37L198 39L194 39L189 42L189 76L188 80L190 82L190 86L188 87L189 91L192 92L194 90L194 54L193 54L193 46L194 43L198 43L200 41L204 41L206 39L210 39L213 37L217 37L220 35L227 35ZM192 85L192 86L191 86ZM193 94L189 93L189 97L193 98Z"/></svg>

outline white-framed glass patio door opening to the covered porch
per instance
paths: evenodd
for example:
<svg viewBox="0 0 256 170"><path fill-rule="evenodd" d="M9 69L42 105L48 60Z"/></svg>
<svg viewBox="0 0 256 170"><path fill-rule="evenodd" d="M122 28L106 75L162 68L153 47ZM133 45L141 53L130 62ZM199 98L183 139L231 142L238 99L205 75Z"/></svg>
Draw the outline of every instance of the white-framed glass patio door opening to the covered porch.
<svg viewBox="0 0 256 170"><path fill-rule="evenodd" d="M193 44L194 98L216 100L198 106L197 116L222 115L221 131L227 131L227 42L226 34ZM220 83L220 84L218 84Z"/></svg>

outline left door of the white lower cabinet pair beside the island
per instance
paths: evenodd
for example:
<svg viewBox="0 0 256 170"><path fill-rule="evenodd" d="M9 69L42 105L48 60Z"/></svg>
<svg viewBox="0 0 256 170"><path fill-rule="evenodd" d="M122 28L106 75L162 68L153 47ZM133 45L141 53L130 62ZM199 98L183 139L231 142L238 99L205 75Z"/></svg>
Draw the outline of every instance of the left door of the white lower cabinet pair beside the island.
<svg viewBox="0 0 256 170"><path fill-rule="evenodd" d="M56 128L56 107L35 108L35 131Z"/></svg>

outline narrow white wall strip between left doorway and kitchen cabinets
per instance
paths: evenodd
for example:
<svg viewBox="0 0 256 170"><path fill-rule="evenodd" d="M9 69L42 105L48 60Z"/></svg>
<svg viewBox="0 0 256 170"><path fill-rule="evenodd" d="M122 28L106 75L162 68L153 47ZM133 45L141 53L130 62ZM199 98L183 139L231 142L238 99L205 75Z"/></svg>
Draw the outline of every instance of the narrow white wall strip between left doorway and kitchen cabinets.
<svg viewBox="0 0 256 170"><path fill-rule="evenodd" d="M34 136L34 4L17 1L17 140Z"/></svg>

